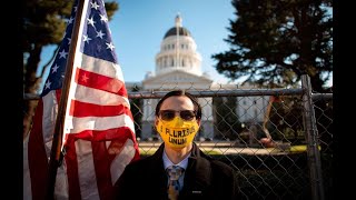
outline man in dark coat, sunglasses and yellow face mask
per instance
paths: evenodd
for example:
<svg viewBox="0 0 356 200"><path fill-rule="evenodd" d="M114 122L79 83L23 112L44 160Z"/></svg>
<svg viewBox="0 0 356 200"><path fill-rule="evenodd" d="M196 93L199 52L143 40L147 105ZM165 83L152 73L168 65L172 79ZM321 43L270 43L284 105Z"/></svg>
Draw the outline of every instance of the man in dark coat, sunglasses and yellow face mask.
<svg viewBox="0 0 356 200"><path fill-rule="evenodd" d="M205 154L194 142L201 119L197 99L182 90L168 92L156 107L156 130L164 140L150 157L128 164L116 182L117 199L237 199L236 176L229 166ZM182 169L170 196L166 173Z"/></svg>

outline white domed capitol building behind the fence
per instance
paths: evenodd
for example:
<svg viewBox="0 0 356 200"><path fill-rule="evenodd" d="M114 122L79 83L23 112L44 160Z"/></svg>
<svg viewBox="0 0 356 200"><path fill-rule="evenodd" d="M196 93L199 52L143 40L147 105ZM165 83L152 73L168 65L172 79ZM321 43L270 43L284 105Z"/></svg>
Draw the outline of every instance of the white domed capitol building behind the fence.
<svg viewBox="0 0 356 200"><path fill-rule="evenodd" d="M207 73L201 72L201 56L197 51L190 31L182 27L180 14L175 18L175 24L164 34L160 43L160 50L156 54L155 72L147 72L141 82L127 82L127 91L132 91L132 88L139 88L140 91L170 91L175 89L185 90L217 90L221 89L221 84L214 82ZM224 89L236 89L236 84L224 84ZM254 118L261 122L264 113L260 108L266 108L268 97L238 97L238 110L236 113L240 121L248 121ZM141 140L148 140L157 137L154 129L155 108L159 99L144 99L141 110ZM202 139L214 139L214 113L212 98L198 98L201 104L201 130L197 137ZM246 101L247 100L247 101ZM259 104L257 110L251 107ZM246 107L246 109L244 109ZM246 113L251 112L251 113Z"/></svg>

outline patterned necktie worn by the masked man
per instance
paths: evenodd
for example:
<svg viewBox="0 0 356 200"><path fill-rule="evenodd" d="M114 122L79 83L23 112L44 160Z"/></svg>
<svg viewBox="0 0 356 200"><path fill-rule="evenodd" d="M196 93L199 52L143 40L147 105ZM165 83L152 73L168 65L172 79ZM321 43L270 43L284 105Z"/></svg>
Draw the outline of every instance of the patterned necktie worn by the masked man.
<svg viewBox="0 0 356 200"><path fill-rule="evenodd" d="M182 174L184 170L185 169L179 166L170 166L166 170L167 174L169 177L168 199L170 199L170 200L178 199L178 194L179 194L179 190L180 190L178 179Z"/></svg>

